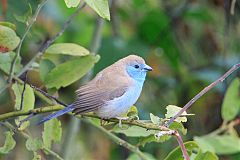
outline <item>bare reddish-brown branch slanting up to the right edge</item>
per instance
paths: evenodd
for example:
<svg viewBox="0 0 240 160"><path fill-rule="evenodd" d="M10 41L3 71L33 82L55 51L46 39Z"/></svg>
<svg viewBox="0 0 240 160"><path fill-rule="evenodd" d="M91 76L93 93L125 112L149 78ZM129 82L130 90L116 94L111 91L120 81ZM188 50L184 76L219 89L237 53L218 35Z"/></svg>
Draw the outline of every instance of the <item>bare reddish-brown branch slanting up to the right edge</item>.
<svg viewBox="0 0 240 160"><path fill-rule="evenodd" d="M232 74L234 71L236 71L240 67L240 63L235 64L231 69L229 69L223 76L221 76L219 79L205 87L201 92L199 92L195 97L193 97L175 116L173 116L166 124L168 127L170 124L173 123L173 121L181 116L181 114L186 111L189 107L192 106L193 103L195 103L200 97L202 97L205 93L207 93L210 89L215 87L218 83L223 82L230 74Z"/></svg>

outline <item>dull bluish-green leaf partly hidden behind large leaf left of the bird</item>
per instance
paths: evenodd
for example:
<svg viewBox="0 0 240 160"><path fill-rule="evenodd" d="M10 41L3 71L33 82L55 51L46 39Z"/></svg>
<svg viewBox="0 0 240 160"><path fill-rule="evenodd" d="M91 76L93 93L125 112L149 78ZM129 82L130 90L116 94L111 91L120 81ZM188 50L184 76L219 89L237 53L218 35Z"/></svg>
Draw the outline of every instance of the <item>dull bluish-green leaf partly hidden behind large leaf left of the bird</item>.
<svg viewBox="0 0 240 160"><path fill-rule="evenodd" d="M47 76L47 74L54 68L56 67L56 65L48 60L48 59L42 59L40 61L40 68L39 68L39 72L40 72L40 78L41 80L44 82L45 78Z"/></svg>

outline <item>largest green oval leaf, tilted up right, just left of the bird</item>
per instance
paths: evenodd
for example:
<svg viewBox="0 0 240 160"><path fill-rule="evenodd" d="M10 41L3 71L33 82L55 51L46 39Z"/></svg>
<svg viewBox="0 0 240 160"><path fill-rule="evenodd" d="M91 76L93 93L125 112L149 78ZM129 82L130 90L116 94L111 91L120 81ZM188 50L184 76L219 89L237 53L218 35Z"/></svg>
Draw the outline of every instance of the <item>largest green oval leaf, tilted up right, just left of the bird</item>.
<svg viewBox="0 0 240 160"><path fill-rule="evenodd" d="M44 82L48 88L66 87L83 77L98 60L98 55L88 55L62 63L47 74Z"/></svg>

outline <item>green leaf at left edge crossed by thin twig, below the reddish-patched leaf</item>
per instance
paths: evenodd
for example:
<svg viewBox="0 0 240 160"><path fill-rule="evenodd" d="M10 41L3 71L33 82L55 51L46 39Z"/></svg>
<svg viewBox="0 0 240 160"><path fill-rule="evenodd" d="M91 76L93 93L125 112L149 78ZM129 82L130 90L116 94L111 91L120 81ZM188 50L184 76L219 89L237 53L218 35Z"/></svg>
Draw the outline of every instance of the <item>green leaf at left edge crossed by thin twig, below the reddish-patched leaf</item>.
<svg viewBox="0 0 240 160"><path fill-rule="evenodd" d="M4 72L9 73L11 63L13 61L15 54L16 53L14 53L14 52L7 52L4 54L0 54L0 68ZM22 69L21 57L18 57L17 61L16 61L14 73L18 73L21 69Z"/></svg>

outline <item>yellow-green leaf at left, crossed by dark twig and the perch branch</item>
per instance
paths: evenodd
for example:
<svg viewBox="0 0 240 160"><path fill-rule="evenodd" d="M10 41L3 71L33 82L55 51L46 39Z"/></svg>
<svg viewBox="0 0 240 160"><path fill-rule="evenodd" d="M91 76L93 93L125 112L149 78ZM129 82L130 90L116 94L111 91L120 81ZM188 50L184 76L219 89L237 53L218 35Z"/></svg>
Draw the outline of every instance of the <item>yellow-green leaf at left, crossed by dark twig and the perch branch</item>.
<svg viewBox="0 0 240 160"><path fill-rule="evenodd" d="M15 109L20 110L20 104L21 104L21 98L22 98L22 92L23 92L23 85L14 83L12 85L12 89L14 91L15 95ZM22 111L29 111L34 108L35 103L35 96L33 89L26 85L24 96L23 96L23 106ZM27 116L20 116L15 119L16 125L19 125L20 121L25 119ZM21 124L21 126L18 128L19 130L24 130L29 126L29 121L25 121Z"/></svg>

